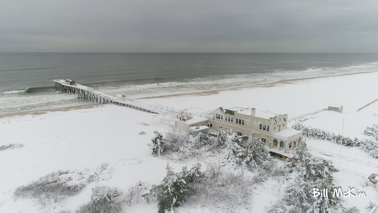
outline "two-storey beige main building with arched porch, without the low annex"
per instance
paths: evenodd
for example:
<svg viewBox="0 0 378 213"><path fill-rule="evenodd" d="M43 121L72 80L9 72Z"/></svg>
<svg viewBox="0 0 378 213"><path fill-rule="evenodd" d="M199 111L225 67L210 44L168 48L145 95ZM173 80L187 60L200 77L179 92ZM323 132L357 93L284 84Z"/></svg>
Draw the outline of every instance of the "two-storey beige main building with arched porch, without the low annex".
<svg viewBox="0 0 378 213"><path fill-rule="evenodd" d="M293 154L303 132L287 128L287 114L277 114L256 110L255 108L219 107L213 112L206 113L210 129L228 131L232 129L239 136L255 133L265 143L271 152L289 157ZM212 117L212 118L211 118Z"/></svg>

